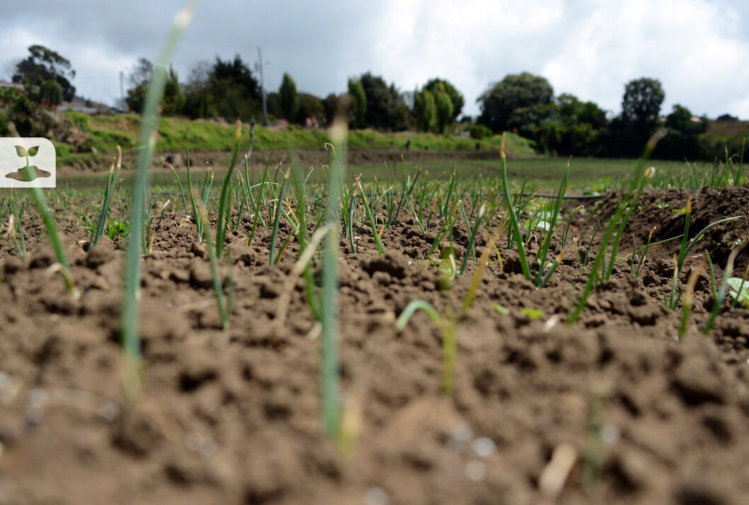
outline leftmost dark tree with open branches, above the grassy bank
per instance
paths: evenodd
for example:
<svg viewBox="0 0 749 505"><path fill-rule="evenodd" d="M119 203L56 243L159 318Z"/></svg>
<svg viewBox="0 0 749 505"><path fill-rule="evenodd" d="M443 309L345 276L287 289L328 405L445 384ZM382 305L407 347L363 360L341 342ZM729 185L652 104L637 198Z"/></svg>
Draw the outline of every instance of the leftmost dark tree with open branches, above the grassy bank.
<svg viewBox="0 0 749 505"><path fill-rule="evenodd" d="M49 105L58 105L63 100L73 100L76 88L70 80L76 71L70 61L44 46L29 46L30 55L16 64L13 82L22 82L27 89L34 89L34 100Z"/></svg>

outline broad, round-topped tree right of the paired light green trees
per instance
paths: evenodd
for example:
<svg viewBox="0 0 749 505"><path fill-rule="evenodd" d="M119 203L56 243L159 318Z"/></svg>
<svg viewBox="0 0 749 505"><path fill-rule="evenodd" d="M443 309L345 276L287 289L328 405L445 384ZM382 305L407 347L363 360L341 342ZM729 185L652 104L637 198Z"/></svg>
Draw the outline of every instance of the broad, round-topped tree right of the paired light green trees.
<svg viewBox="0 0 749 505"><path fill-rule="evenodd" d="M479 123L495 133L507 129L510 116L518 108L547 105L554 99L554 88L539 76L524 72L509 75L496 82L479 97L481 115Z"/></svg>

